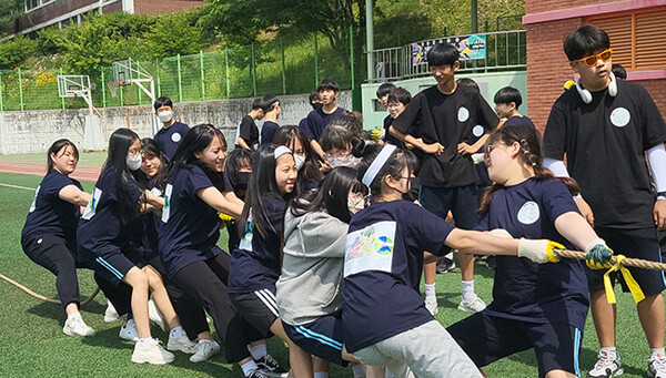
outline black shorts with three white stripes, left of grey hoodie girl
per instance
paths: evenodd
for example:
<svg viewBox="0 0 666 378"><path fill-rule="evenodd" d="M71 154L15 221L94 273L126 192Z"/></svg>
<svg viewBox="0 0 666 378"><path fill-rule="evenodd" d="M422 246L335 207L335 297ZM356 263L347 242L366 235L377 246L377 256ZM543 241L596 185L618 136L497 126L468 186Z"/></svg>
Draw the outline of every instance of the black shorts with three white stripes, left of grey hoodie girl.
<svg viewBox="0 0 666 378"><path fill-rule="evenodd" d="M271 337L271 326L280 317L275 303L275 287L248 294L231 294L239 314L264 337Z"/></svg>

